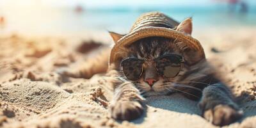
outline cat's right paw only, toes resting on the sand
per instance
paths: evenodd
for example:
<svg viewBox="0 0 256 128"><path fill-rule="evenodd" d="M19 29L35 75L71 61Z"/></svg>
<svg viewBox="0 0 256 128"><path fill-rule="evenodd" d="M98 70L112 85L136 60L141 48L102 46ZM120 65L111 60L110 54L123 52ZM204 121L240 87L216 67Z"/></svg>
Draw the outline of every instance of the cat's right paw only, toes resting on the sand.
<svg viewBox="0 0 256 128"><path fill-rule="evenodd" d="M204 111L204 118L214 125L228 125L236 122L239 118L243 116L242 111L237 111L228 105L218 105L213 109L208 109Z"/></svg>

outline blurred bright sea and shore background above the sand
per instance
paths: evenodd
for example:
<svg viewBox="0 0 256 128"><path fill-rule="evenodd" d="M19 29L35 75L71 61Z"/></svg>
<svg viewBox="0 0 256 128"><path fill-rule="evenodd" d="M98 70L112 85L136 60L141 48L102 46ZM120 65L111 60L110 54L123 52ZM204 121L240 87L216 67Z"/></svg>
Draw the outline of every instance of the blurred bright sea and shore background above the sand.
<svg viewBox="0 0 256 128"><path fill-rule="evenodd" d="M0 32L127 33L141 13L151 11L166 13L178 21L193 17L195 29L256 26L255 0L1 0Z"/></svg>

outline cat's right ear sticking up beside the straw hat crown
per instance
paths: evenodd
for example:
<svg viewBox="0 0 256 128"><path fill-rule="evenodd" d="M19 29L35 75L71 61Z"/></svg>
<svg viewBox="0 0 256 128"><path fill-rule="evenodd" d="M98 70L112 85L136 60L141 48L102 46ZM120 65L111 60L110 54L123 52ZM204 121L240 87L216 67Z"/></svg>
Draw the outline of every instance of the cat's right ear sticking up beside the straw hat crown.
<svg viewBox="0 0 256 128"><path fill-rule="evenodd" d="M182 33L191 35L191 33L192 33L192 18L190 17L190 18L180 22L180 24L176 30L181 31Z"/></svg>

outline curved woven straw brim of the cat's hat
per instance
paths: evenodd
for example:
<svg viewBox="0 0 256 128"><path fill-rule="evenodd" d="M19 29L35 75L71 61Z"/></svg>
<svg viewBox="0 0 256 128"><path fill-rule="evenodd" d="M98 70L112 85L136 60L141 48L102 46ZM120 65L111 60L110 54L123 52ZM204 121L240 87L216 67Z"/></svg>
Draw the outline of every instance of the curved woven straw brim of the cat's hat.
<svg viewBox="0 0 256 128"><path fill-rule="evenodd" d="M131 33L123 36L116 42L113 46L110 56L109 56L109 64L113 63L116 60L115 52L120 49L120 47L129 47L132 43L140 40L142 38L147 38L150 36L161 36L165 38L173 38L179 42L184 42L188 45L190 49L198 51L200 58L204 59L204 49L198 40L193 38L191 35L186 35L180 31L176 31L170 28L162 28L162 27L143 27L140 29L136 29L136 31L132 31Z"/></svg>

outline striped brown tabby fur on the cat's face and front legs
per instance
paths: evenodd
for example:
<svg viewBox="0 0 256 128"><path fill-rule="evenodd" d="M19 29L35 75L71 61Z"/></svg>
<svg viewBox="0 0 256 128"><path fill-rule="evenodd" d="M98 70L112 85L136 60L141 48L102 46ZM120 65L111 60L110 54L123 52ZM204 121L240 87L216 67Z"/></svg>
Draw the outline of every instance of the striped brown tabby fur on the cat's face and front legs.
<svg viewBox="0 0 256 128"><path fill-rule="evenodd" d="M120 120L138 118L143 111L143 97L169 95L170 93L182 93L189 99L200 100L202 116L212 124L227 125L241 117L242 114L233 101L232 94L218 79L214 68L206 60L195 62L193 56L196 56L196 51L191 55L189 48L182 42L175 42L173 39L163 37L149 37L134 42L125 51L120 50L120 52L124 56L120 60L128 57L153 60L164 54L179 54L184 56L186 62L176 77L162 77L156 71L147 72L148 68L145 68L138 81L129 81L120 66L109 67L112 70L109 71L112 72L109 74L116 78L113 83L115 96L110 107L113 118ZM120 65L120 61L116 63ZM150 64L147 67L154 68ZM152 88L145 82L147 73L158 76ZM218 113L216 114L214 111L218 111Z"/></svg>

